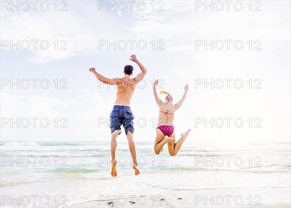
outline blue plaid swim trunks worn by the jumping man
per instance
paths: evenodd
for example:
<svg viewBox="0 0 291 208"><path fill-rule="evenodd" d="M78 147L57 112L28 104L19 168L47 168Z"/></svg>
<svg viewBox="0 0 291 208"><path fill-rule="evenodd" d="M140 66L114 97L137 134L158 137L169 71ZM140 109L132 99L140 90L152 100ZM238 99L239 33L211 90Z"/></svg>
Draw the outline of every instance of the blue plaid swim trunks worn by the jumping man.
<svg viewBox="0 0 291 208"><path fill-rule="evenodd" d="M121 133L121 124L124 127L125 134L127 134L128 130L133 134L133 119L134 117L129 106L114 105L110 114L111 134L114 131L119 130L119 135Z"/></svg>

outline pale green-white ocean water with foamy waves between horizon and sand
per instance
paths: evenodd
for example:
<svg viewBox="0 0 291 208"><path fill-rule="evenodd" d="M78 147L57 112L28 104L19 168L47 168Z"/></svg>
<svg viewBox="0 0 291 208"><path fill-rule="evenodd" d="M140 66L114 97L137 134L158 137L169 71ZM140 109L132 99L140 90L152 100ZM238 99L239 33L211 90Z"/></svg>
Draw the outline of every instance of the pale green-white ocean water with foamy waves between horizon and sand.
<svg viewBox="0 0 291 208"><path fill-rule="evenodd" d="M128 143L119 142L117 174L110 142L0 142L1 207L64 207L80 202L150 195L165 190L290 187L290 142L185 142L176 156L165 146L136 142L136 176Z"/></svg>

